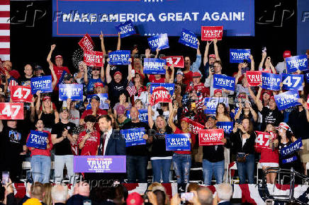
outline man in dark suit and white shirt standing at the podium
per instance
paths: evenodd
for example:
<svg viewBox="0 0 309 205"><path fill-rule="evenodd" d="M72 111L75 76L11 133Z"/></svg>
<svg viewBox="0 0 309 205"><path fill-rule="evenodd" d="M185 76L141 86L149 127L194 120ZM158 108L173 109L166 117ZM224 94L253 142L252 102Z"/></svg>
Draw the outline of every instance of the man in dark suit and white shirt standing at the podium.
<svg viewBox="0 0 309 205"><path fill-rule="evenodd" d="M101 115L99 127L103 132L100 140L98 155L102 156L125 156L125 139L118 130L113 130L111 117Z"/></svg>

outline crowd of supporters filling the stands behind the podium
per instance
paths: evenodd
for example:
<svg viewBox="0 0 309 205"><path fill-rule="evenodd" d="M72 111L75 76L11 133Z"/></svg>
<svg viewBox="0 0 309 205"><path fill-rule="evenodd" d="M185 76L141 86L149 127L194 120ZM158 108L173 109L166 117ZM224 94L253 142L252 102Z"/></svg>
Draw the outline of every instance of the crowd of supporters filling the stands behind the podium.
<svg viewBox="0 0 309 205"><path fill-rule="evenodd" d="M108 54L101 34L101 50ZM51 45L47 54L49 70L40 65L26 64L23 71L17 71L11 61L4 61L5 74L1 78L0 102L11 102L12 86L30 86L30 79L37 76L52 76L52 93L33 95L32 102L25 102L23 120L0 120L0 169L9 171L11 180L21 180L21 165L30 154L33 182L48 183L64 178L72 179L74 156L126 156L127 172L120 181L128 183L147 182L148 161L152 164L153 182L172 182L171 166L174 168L177 183L189 183L190 169L203 168L203 183L211 185L223 183L227 165L237 163L240 184L254 183L254 170L257 161L263 170L266 168L292 167L307 175L305 169L309 162L309 111L307 105L306 84L300 91L300 104L286 110L278 110L274 95L281 91L264 90L262 86L249 86L246 71L265 71L273 74L286 72L287 57L291 52L283 53L283 62L274 66L271 57L262 53L258 68L254 57L251 63L242 62L232 76L235 77L235 91L213 87L213 76L224 74L230 64L220 61L218 40L206 42L202 56L200 43L196 49L196 59L184 56L184 68L172 64L166 66L166 74L144 74L143 59L159 56L157 49L152 54L134 45L131 50L131 64L113 66L109 59L103 59L101 67L86 66L80 61L78 68L68 68L64 58L57 54L56 45ZM213 48L212 48L213 47ZM117 49L120 50L120 37ZM210 50L213 49L213 53ZM309 58L309 50L307 51ZM172 55L172 54L171 54ZM300 71L296 72L300 74ZM60 81L61 80L61 81ZM84 100L59 100L59 84L82 84ZM159 102L150 105L151 83L174 83L174 95L171 102ZM101 93L108 93L107 109L100 105ZM91 95L90 100L86 98ZM215 115L204 112L204 98L223 99L216 107ZM139 118L140 110L147 110L147 122ZM130 112L130 117L127 115ZM218 122L233 122L230 134L225 132L223 145L200 146L198 135L193 134L189 119L204 126L203 129L217 129ZM146 144L125 146L125 139L119 134L121 129L144 128ZM27 147L30 130L48 134L46 149ZM154 130L150 134L149 130ZM255 131L271 134L269 148L256 148ZM189 134L190 151L167 151L166 134ZM285 158L279 151L301 138L303 147L293 153L295 160L283 163ZM260 157L259 154L260 153ZM53 162L53 163L52 163ZM53 166L52 166L53 164ZM64 166L66 171L64 172ZM55 172L51 175L51 170ZM89 176L88 176L89 177ZM93 176L90 176L93 177ZM267 182L276 183L276 174L267 175Z"/></svg>

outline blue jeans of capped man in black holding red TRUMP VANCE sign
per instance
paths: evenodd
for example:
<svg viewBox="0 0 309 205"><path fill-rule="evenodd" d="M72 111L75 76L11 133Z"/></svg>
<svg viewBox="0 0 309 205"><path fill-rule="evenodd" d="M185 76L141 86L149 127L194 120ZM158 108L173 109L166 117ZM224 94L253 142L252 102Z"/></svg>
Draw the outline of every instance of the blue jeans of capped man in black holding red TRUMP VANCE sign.
<svg viewBox="0 0 309 205"><path fill-rule="evenodd" d="M215 175L215 184L221 184L224 176L224 160L216 163L210 163L208 160L203 160L203 177L205 185L211 185L213 174Z"/></svg>

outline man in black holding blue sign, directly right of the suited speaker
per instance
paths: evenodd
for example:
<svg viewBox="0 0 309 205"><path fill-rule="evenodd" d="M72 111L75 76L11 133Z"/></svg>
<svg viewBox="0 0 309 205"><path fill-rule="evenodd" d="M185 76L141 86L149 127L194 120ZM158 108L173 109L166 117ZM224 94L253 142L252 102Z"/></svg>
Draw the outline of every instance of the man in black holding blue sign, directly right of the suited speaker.
<svg viewBox="0 0 309 205"><path fill-rule="evenodd" d="M123 129L145 128L145 133L150 129L148 124L140 122L138 118L139 112L136 107L130 110L131 121L123 125ZM148 136L145 134L143 139L147 140ZM127 173L128 183L138 182L147 183L147 165L148 165L148 148L147 145L128 146L127 153Z"/></svg>

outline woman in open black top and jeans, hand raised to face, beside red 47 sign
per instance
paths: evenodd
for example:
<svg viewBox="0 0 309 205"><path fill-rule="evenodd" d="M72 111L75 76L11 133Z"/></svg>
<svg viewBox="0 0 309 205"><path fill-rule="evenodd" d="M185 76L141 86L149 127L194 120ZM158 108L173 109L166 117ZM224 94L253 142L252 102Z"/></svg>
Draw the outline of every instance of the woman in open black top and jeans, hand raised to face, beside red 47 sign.
<svg viewBox="0 0 309 205"><path fill-rule="evenodd" d="M250 119L242 119L242 124L235 123L230 136L232 151L237 153L237 170L240 184L254 183L254 142L255 133Z"/></svg>

